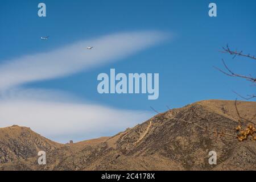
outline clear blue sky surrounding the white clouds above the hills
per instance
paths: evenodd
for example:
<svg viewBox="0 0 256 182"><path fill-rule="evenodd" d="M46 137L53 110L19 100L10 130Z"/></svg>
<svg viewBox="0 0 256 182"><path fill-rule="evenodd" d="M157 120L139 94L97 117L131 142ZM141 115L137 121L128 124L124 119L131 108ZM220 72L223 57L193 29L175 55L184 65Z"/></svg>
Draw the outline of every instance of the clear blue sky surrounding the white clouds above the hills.
<svg viewBox="0 0 256 182"><path fill-rule="evenodd" d="M46 18L37 15L40 2L46 3ZM217 4L217 17L208 16L210 2ZM166 105L174 108L199 100L234 100L237 96L232 90L246 95L254 93L255 88L250 82L223 75L213 66L222 68L223 58L233 71L255 75L253 60L233 60L219 52L228 43L234 49L256 54L255 17L253 0L1 1L0 64L80 40L122 32L159 31L171 38L97 67L26 82L22 88L59 90L79 101L145 112L151 112L150 106L165 111ZM47 35L49 40L40 40ZM97 75L109 73L110 68L118 73L159 73L158 100L147 100L147 94L98 94Z"/></svg>

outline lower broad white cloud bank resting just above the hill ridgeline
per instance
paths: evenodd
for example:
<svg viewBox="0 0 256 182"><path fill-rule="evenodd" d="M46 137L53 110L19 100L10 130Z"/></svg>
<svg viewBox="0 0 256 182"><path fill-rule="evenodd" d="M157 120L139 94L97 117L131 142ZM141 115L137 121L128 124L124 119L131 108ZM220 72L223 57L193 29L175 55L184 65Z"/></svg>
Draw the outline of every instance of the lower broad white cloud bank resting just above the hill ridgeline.
<svg viewBox="0 0 256 182"><path fill-rule="evenodd" d="M63 93L37 89L16 89L5 94L0 98L0 127L27 126L44 137L64 143L69 139L115 134L152 116L147 111L75 102L67 95L61 100L61 96Z"/></svg>

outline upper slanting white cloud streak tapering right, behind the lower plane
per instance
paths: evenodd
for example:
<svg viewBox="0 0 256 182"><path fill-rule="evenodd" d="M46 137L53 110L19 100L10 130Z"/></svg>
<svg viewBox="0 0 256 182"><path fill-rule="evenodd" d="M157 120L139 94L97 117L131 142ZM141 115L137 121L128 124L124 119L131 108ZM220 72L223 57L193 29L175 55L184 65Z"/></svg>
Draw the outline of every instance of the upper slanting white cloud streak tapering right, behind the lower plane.
<svg viewBox="0 0 256 182"><path fill-rule="evenodd" d="M126 32L83 40L50 52L4 60L0 64L0 90L100 66L154 46L164 39L167 35L158 31ZM94 48L88 50L86 46Z"/></svg>

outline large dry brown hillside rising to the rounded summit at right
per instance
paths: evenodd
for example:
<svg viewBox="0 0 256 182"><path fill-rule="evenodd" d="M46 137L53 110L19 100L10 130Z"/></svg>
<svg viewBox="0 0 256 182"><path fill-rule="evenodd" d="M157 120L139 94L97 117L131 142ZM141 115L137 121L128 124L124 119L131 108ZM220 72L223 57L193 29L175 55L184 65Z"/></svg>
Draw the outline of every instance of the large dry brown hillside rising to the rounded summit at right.
<svg viewBox="0 0 256 182"><path fill-rule="evenodd" d="M243 118L256 114L256 102L238 101L237 108ZM251 122L256 123L256 118ZM19 133L14 135L19 136L16 150L30 155L18 158L17 152L11 152L13 158L2 160L0 170L256 170L256 142L252 138L239 142L238 124L234 101L200 101L155 115L110 138L49 143L54 148L47 150L44 166L37 164L36 155L32 157L36 148L20 149L23 144L18 141L29 137ZM212 150L217 152L217 165L208 163Z"/></svg>

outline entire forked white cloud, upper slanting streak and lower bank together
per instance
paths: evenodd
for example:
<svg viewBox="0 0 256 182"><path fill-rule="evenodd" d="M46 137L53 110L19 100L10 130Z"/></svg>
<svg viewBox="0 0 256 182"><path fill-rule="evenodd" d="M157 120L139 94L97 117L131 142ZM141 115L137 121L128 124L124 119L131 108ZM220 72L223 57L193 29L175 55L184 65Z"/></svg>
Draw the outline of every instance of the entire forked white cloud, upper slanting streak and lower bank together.
<svg viewBox="0 0 256 182"><path fill-rule="evenodd" d="M1 61L0 127L28 126L45 137L65 142L114 134L145 121L152 113L77 102L63 92L21 89L21 85L98 67L165 39L167 35L158 31L126 32Z"/></svg>

